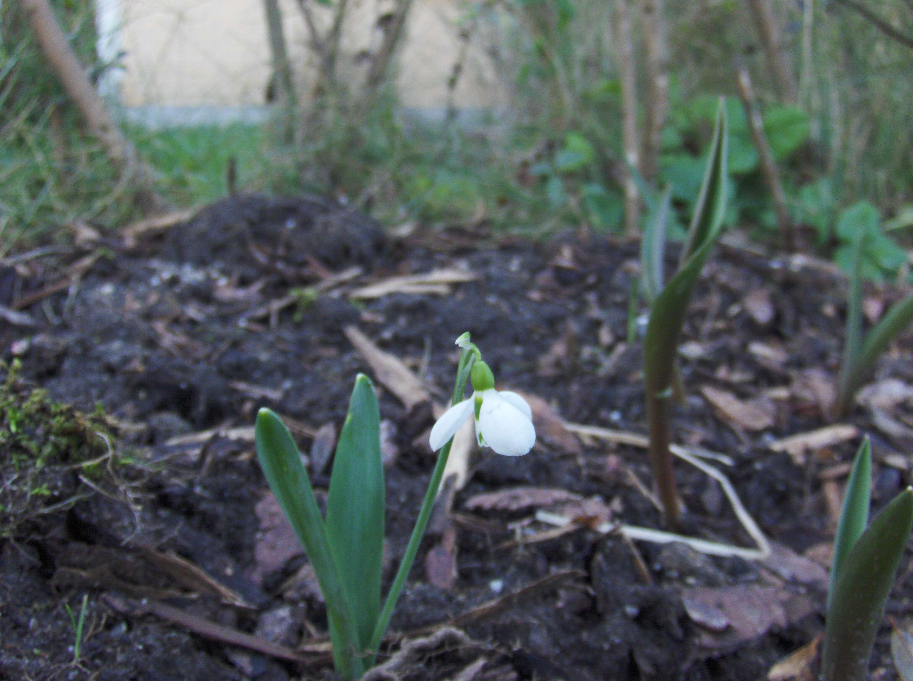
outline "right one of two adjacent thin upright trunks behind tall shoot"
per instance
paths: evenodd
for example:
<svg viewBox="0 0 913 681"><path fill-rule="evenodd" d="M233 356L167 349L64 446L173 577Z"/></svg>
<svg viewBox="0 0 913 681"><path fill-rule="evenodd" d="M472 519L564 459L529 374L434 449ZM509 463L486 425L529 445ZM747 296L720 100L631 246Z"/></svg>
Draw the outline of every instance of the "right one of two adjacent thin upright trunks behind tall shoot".
<svg viewBox="0 0 913 681"><path fill-rule="evenodd" d="M666 111L669 106L668 43L663 0L640 0L646 53L646 102L644 116L644 178L656 181Z"/></svg>

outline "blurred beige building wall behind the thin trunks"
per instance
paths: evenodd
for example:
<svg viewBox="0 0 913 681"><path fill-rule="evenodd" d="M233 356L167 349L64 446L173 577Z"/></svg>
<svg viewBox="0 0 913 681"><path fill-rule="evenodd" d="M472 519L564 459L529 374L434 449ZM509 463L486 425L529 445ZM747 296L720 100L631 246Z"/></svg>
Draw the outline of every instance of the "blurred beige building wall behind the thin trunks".
<svg viewBox="0 0 913 681"><path fill-rule="evenodd" d="M310 1L310 0L309 0ZM324 23L329 12L311 2ZM280 0L296 77L307 91L312 55L297 0ZM358 55L376 48L376 17L384 0L351 0L341 69L361 71ZM270 55L262 0L121 0L125 72L120 96L128 106L262 104ZM410 107L446 106L446 81L459 54L459 0L415 0L397 80ZM463 107L500 103L497 79L474 40L457 88Z"/></svg>

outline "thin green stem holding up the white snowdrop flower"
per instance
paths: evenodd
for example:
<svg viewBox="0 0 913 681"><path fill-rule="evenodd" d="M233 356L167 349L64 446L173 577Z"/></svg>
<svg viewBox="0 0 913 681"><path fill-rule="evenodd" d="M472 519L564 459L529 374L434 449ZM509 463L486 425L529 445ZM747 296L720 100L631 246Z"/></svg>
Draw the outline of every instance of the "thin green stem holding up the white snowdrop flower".
<svg viewBox="0 0 913 681"><path fill-rule="evenodd" d="M452 403L456 404L463 400L463 393L466 392L466 382L469 372L472 369L474 361L480 359L480 353L476 346L468 343L460 356L459 366L456 370L456 385L454 386L454 395ZM435 506L437 490L441 487L441 479L444 477L444 469L447 466L447 458L450 456L450 447L454 444L454 438L451 437L446 445L441 447L440 454L437 455L435 470L431 474L431 480L428 482L428 489L425 491L425 499L422 501L422 508L418 512L418 519L415 520L415 528L412 530L412 536L409 538L409 544L405 548L403 561L400 562L399 570L396 571L393 586L387 593L387 600L383 603L383 610L377 619L377 625L374 627L374 633L371 636L371 644L368 651L371 655L377 654L377 649L383 640L383 634L390 623L390 617L394 613L396 601L400 593L403 592L405 581L409 577L409 571L412 570L412 564L415 562L415 554L418 553L418 547L422 543L422 537L425 536L425 528L428 525L428 519L431 518L431 510ZM372 663L373 665L373 663ZM371 666L371 665L369 665Z"/></svg>

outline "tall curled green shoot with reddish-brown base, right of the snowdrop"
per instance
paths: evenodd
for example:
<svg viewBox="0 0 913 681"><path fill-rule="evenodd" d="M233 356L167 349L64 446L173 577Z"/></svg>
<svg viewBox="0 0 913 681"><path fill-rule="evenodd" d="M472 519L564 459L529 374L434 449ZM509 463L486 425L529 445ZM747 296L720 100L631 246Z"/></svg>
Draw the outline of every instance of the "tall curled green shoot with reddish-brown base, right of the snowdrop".
<svg viewBox="0 0 913 681"><path fill-rule="evenodd" d="M662 290L655 292L651 301L650 320L644 340L644 374L646 414L650 438L650 464L653 467L660 499L666 511L666 522L677 526L678 495L669 452L669 403L676 376L676 352L685 323L691 292L701 269L710 255L710 249L722 230L726 212L727 173L726 157L728 134L726 111L720 102L717 123L710 144L707 170L698 194L698 203L688 228L676 275ZM651 242L652 235L646 236ZM649 246L656 253L656 244ZM650 258L651 262L654 260ZM651 264L654 284L656 267ZM648 289L649 290L649 289Z"/></svg>

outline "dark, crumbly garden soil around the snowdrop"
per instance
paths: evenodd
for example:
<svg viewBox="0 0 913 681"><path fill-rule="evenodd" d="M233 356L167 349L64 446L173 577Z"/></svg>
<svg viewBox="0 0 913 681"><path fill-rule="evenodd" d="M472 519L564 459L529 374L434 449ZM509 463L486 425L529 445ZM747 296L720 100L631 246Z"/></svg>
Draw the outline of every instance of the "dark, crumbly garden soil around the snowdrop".
<svg viewBox="0 0 913 681"><path fill-rule="evenodd" d="M280 542L284 552L272 554L265 545L264 512L255 508L266 483L249 438L175 438L248 426L257 408L268 406L291 420L302 451L309 451L321 425L341 424L356 372L371 373L343 334L348 325L416 372L426 367L425 381L438 398L451 390L453 342L469 330L499 387L543 398L568 422L645 430L640 348L624 347L636 244L604 236L530 242L465 230L419 231L397 240L362 215L317 199L248 196L215 204L139 248L117 241L99 247L108 256L77 283L23 310L35 326L0 320L0 358L17 357L23 376L56 400L89 411L100 403L119 435L118 451L130 457L122 466L131 469L125 476L131 483L121 495L94 494L31 518L0 540L0 677L333 677L327 655L312 645L325 631L325 611L301 570L306 559L288 542ZM54 284L81 255L4 267L0 304L13 306ZM363 270L359 278L313 293L333 273L356 265ZM347 295L372 281L439 267L468 267L478 279L443 297L396 293L359 302ZM296 289L297 302L275 313L275 324L268 310L261 314ZM771 293L771 320L750 314L746 296L759 290ZM888 303L898 295L870 293ZM813 260L719 246L686 325L689 351L681 364L688 394L676 410L675 439L734 459L734 466L719 467L761 529L790 555L832 540L822 479L850 461L858 445L855 438L812 453L801 467L770 449L775 439L829 423L802 386L809 376L820 381L835 372L844 299L843 279ZM750 351L752 341L782 359ZM913 382L911 349L911 339L902 339L877 378ZM701 396L704 385L763 402L771 427L750 432L724 420ZM407 410L386 390L381 413L394 453L387 468L390 581L434 466L425 444L433 416L427 404ZM907 452L913 443L903 433L884 435L861 406L845 422L873 436L880 507L909 482L907 471L882 464L883 457ZM0 452L4 465L5 456ZM680 544L638 543L646 582L632 547L617 535L580 529L518 544L511 540L549 529L523 526L534 508L465 508L482 492L550 487L599 497L624 523L661 528L656 508L628 471L650 479L643 450L597 441L580 446L574 438L569 444L541 426L528 456L478 454L467 486L456 492L453 514L432 523L391 629L415 639L428 633L425 627L476 614L456 620L466 636L442 634L391 677L456 678L484 657L481 671L461 678L760 679L821 631L820 580L782 579L769 567L704 556ZM312 475L316 487L326 487L326 470ZM716 483L684 464L677 476L687 533L750 546ZM519 529L509 529L511 523ZM443 546L448 531L456 536L450 589L435 577L434 561L425 567L427 550ZM163 556L184 559L232 597L214 595L211 583L194 582L187 572L163 568ZM558 572L566 574L541 583ZM901 576L907 575L905 563ZM530 585L497 612L474 610ZM734 643L714 638L683 604L683 589L771 585L803 607L787 608L782 621ZM65 605L79 615L87 593L74 664ZM898 579L889 613L902 619L911 600L908 579ZM175 622L150 610L150 603L185 617ZM293 662L252 652L219 635L194 633L187 617L310 653ZM873 670L880 670L878 678L894 677L887 628Z"/></svg>

